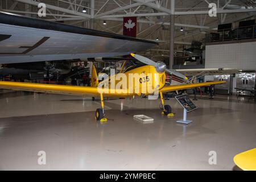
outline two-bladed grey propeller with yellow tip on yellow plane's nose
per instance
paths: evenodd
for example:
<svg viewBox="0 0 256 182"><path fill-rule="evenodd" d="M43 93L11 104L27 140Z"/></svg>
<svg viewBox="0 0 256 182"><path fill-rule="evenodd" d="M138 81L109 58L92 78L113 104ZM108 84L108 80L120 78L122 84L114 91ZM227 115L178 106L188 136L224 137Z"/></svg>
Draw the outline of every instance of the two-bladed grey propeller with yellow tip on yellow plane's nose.
<svg viewBox="0 0 256 182"><path fill-rule="evenodd" d="M173 69L167 69L166 64L164 64L162 61L155 62L155 61L152 61L151 59L148 59L147 57L144 57L144 56L141 56L141 55L136 55L134 53L131 53L131 56L133 56L135 59L141 61L144 64L152 65L153 67L155 67L156 71L159 72L159 73L163 73L164 71L166 71L167 73L173 74L173 75L178 76L180 78L183 78L184 80L188 79L185 75L183 75L179 72L176 72Z"/></svg>

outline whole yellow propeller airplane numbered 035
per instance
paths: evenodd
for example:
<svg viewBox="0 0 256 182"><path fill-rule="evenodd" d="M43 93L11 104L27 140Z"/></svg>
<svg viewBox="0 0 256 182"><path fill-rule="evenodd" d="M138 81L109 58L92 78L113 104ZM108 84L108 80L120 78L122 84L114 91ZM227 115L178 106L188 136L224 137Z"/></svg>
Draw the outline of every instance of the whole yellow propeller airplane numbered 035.
<svg viewBox="0 0 256 182"><path fill-rule="evenodd" d="M69 85L51 85L51 84L34 84L27 82L8 82L0 81L0 88L2 89L13 89L13 90L27 90L32 92L46 92L46 93L57 93L57 94L75 94L81 96L93 96L101 98L101 108L96 110L96 119L101 122L106 122L105 111L104 111L104 97L134 97L134 96L150 96L156 91L158 96L160 95L160 109L162 114L172 116L172 109L170 105L164 105L163 93L172 92L176 90L183 90L188 88L197 88L200 86L208 86L215 84L223 84L225 81L212 81L212 82L201 82L201 83L189 83L188 78L179 72L166 68L166 64L158 61L147 59L146 57L135 55L131 53L131 56L139 60L141 64L131 64L129 61L123 63L121 70L116 75L109 77L109 79L98 81L96 68L93 65L91 86L69 86ZM180 85L165 86L166 75L165 72L170 73L179 79ZM138 80L130 75L139 75ZM150 75L152 77L150 77ZM120 84L123 80L121 78L126 76L126 85ZM114 79L113 79L114 78ZM106 83L110 83L110 87ZM113 86L112 86L113 85ZM146 86L145 86L146 85ZM148 89L151 87L151 89ZM117 86L119 88L117 89ZM129 87L130 86L130 87ZM129 88L129 89L128 89Z"/></svg>

